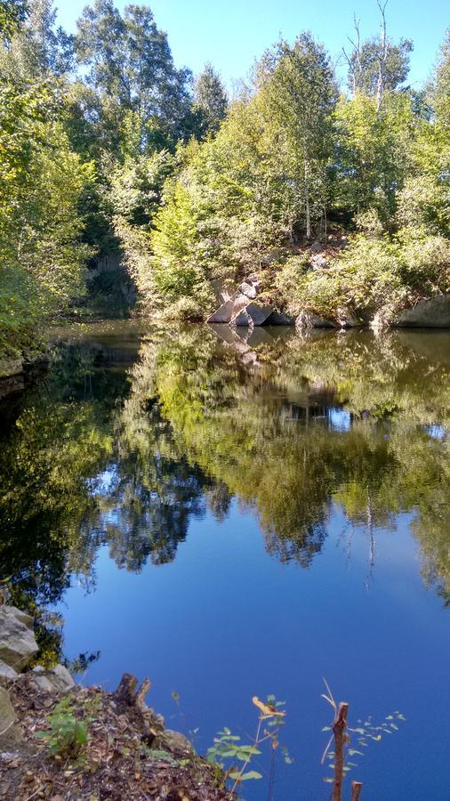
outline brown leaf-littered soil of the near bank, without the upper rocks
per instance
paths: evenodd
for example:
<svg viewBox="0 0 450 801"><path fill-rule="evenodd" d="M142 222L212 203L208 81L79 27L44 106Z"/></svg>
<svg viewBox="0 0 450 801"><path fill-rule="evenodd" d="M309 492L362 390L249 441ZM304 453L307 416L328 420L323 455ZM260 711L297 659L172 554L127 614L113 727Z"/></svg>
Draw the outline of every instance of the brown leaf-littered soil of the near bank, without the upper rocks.
<svg viewBox="0 0 450 801"><path fill-rule="evenodd" d="M78 753L72 749L52 756L52 743L38 739L36 732L50 731L48 715L61 696L37 689L30 674L9 689L22 741L11 751L0 750L2 799L235 798L224 788L221 771L197 756L181 734L165 730L163 719L135 695L95 686L70 691L72 714L84 721L89 739Z"/></svg>

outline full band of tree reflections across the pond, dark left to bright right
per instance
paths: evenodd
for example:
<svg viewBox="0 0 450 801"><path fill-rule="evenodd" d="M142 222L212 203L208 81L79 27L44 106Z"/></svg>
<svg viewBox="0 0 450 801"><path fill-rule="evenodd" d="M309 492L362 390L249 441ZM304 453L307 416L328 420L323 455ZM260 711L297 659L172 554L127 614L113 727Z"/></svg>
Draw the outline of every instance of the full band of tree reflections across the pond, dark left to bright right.
<svg viewBox="0 0 450 801"><path fill-rule="evenodd" d="M0 449L15 603L54 603L73 573L89 588L100 545L128 570L169 562L192 516L221 521L233 496L269 553L303 566L333 505L372 543L413 511L423 576L450 599L446 339L260 340L189 328L154 332L139 358L138 341L55 347Z"/></svg>

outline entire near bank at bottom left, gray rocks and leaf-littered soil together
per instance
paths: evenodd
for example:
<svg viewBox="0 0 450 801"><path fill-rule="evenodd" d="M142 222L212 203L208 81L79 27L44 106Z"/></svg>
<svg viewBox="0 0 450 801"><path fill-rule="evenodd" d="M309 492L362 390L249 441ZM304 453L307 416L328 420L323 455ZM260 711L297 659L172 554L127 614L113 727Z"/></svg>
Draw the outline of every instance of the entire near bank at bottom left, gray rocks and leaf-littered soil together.
<svg viewBox="0 0 450 801"><path fill-rule="evenodd" d="M33 626L25 612L0 605L1 798L235 798L220 768L147 706L148 679L139 685L125 674L116 692L105 692L76 684L64 665L31 667ZM85 738L72 737L76 727Z"/></svg>

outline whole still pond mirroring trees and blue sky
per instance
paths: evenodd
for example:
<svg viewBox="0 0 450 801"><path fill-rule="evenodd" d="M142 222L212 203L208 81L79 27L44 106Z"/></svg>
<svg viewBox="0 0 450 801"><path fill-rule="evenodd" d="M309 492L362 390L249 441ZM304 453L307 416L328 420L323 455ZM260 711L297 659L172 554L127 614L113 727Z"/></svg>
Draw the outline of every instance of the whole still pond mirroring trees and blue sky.
<svg viewBox="0 0 450 801"><path fill-rule="evenodd" d="M148 675L199 752L275 694L277 801L329 797L325 677L397 726L352 737L365 801L448 801L450 332L67 328L1 416L0 570L45 659Z"/></svg>

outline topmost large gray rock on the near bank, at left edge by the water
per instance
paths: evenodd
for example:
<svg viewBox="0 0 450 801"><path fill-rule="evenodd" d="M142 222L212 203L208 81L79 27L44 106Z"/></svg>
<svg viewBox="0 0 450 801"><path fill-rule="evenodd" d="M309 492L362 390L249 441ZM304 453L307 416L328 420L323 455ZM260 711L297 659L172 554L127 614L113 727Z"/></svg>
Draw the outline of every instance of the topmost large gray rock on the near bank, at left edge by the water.
<svg viewBox="0 0 450 801"><path fill-rule="evenodd" d="M0 659L15 670L27 667L37 653L30 629L33 619L13 606L0 606Z"/></svg>

